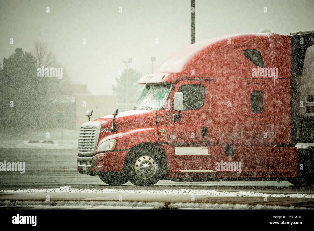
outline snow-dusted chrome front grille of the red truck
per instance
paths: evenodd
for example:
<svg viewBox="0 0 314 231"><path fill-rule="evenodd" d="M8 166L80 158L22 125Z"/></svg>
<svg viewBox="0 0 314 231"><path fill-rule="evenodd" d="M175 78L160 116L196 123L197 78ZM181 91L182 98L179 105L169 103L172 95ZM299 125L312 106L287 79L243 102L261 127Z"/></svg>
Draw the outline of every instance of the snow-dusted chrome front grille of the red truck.
<svg viewBox="0 0 314 231"><path fill-rule="evenodd" d="M78 137L78 151L92 152L95 147L96 127L81 128ZM97 137L98 140L98 137Z"/></svg>

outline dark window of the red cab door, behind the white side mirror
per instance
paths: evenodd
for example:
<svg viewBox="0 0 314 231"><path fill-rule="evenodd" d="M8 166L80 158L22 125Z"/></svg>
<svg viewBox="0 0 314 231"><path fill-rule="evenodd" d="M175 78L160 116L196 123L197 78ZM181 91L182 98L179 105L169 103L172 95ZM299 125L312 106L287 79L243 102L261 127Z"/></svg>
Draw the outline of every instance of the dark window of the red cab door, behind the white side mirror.
<svg viewBox="0 0 314 231"><path fill-rule="evenodd" d="M197 110L203 107L205 87L197 84L181 85L177 92L183 92L183 111ZM174 101L172 102L172 108Z"/></svg>

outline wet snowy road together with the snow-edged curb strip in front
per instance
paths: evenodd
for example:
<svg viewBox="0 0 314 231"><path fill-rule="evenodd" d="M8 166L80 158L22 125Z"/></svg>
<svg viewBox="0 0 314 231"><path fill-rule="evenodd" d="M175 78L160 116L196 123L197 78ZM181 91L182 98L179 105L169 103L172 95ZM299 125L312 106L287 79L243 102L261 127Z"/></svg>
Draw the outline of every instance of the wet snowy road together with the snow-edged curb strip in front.
<svg viewBox="0 0 314 231"><path fill-rule="evenodd" d="M314 188L284 182L173 182L109 186L80 174L75 151L0 149L0 162L25 162L25 173L1 172L1 208L314 208ZM58 189L60 186L61 190ZM36 190L29 190L36 189ZM12 191L15 190L15 191ZM46 202L46 196L50 202ZM120 198L123 198L120 201ZM194 201L191 201L193 198ZM265 201L267 198L267 201ZM279 206L279 207L278 207ZM51 206L48 206L51 207Z"/></svg>

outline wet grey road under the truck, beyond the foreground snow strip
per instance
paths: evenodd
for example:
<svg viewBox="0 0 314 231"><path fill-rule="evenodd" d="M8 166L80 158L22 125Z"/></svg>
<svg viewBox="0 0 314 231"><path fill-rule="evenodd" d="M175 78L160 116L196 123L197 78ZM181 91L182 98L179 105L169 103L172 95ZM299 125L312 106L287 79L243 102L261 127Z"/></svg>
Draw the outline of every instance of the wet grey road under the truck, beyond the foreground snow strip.
<svg viewBox="0 0 314 231"><path fill-rule="evenodd" d="M130 182L122 186L108 186L98 177L79 174L75 151L0 149L0 162L25 162L25 173L1 172L0 189L47 189L71 185L72 188L165 190L195 189L217 191L251 191L263 193L310 193L314 187L298 188L287 181L277 182L173 182L159 181L154 186L138 187Z"/></svg>

